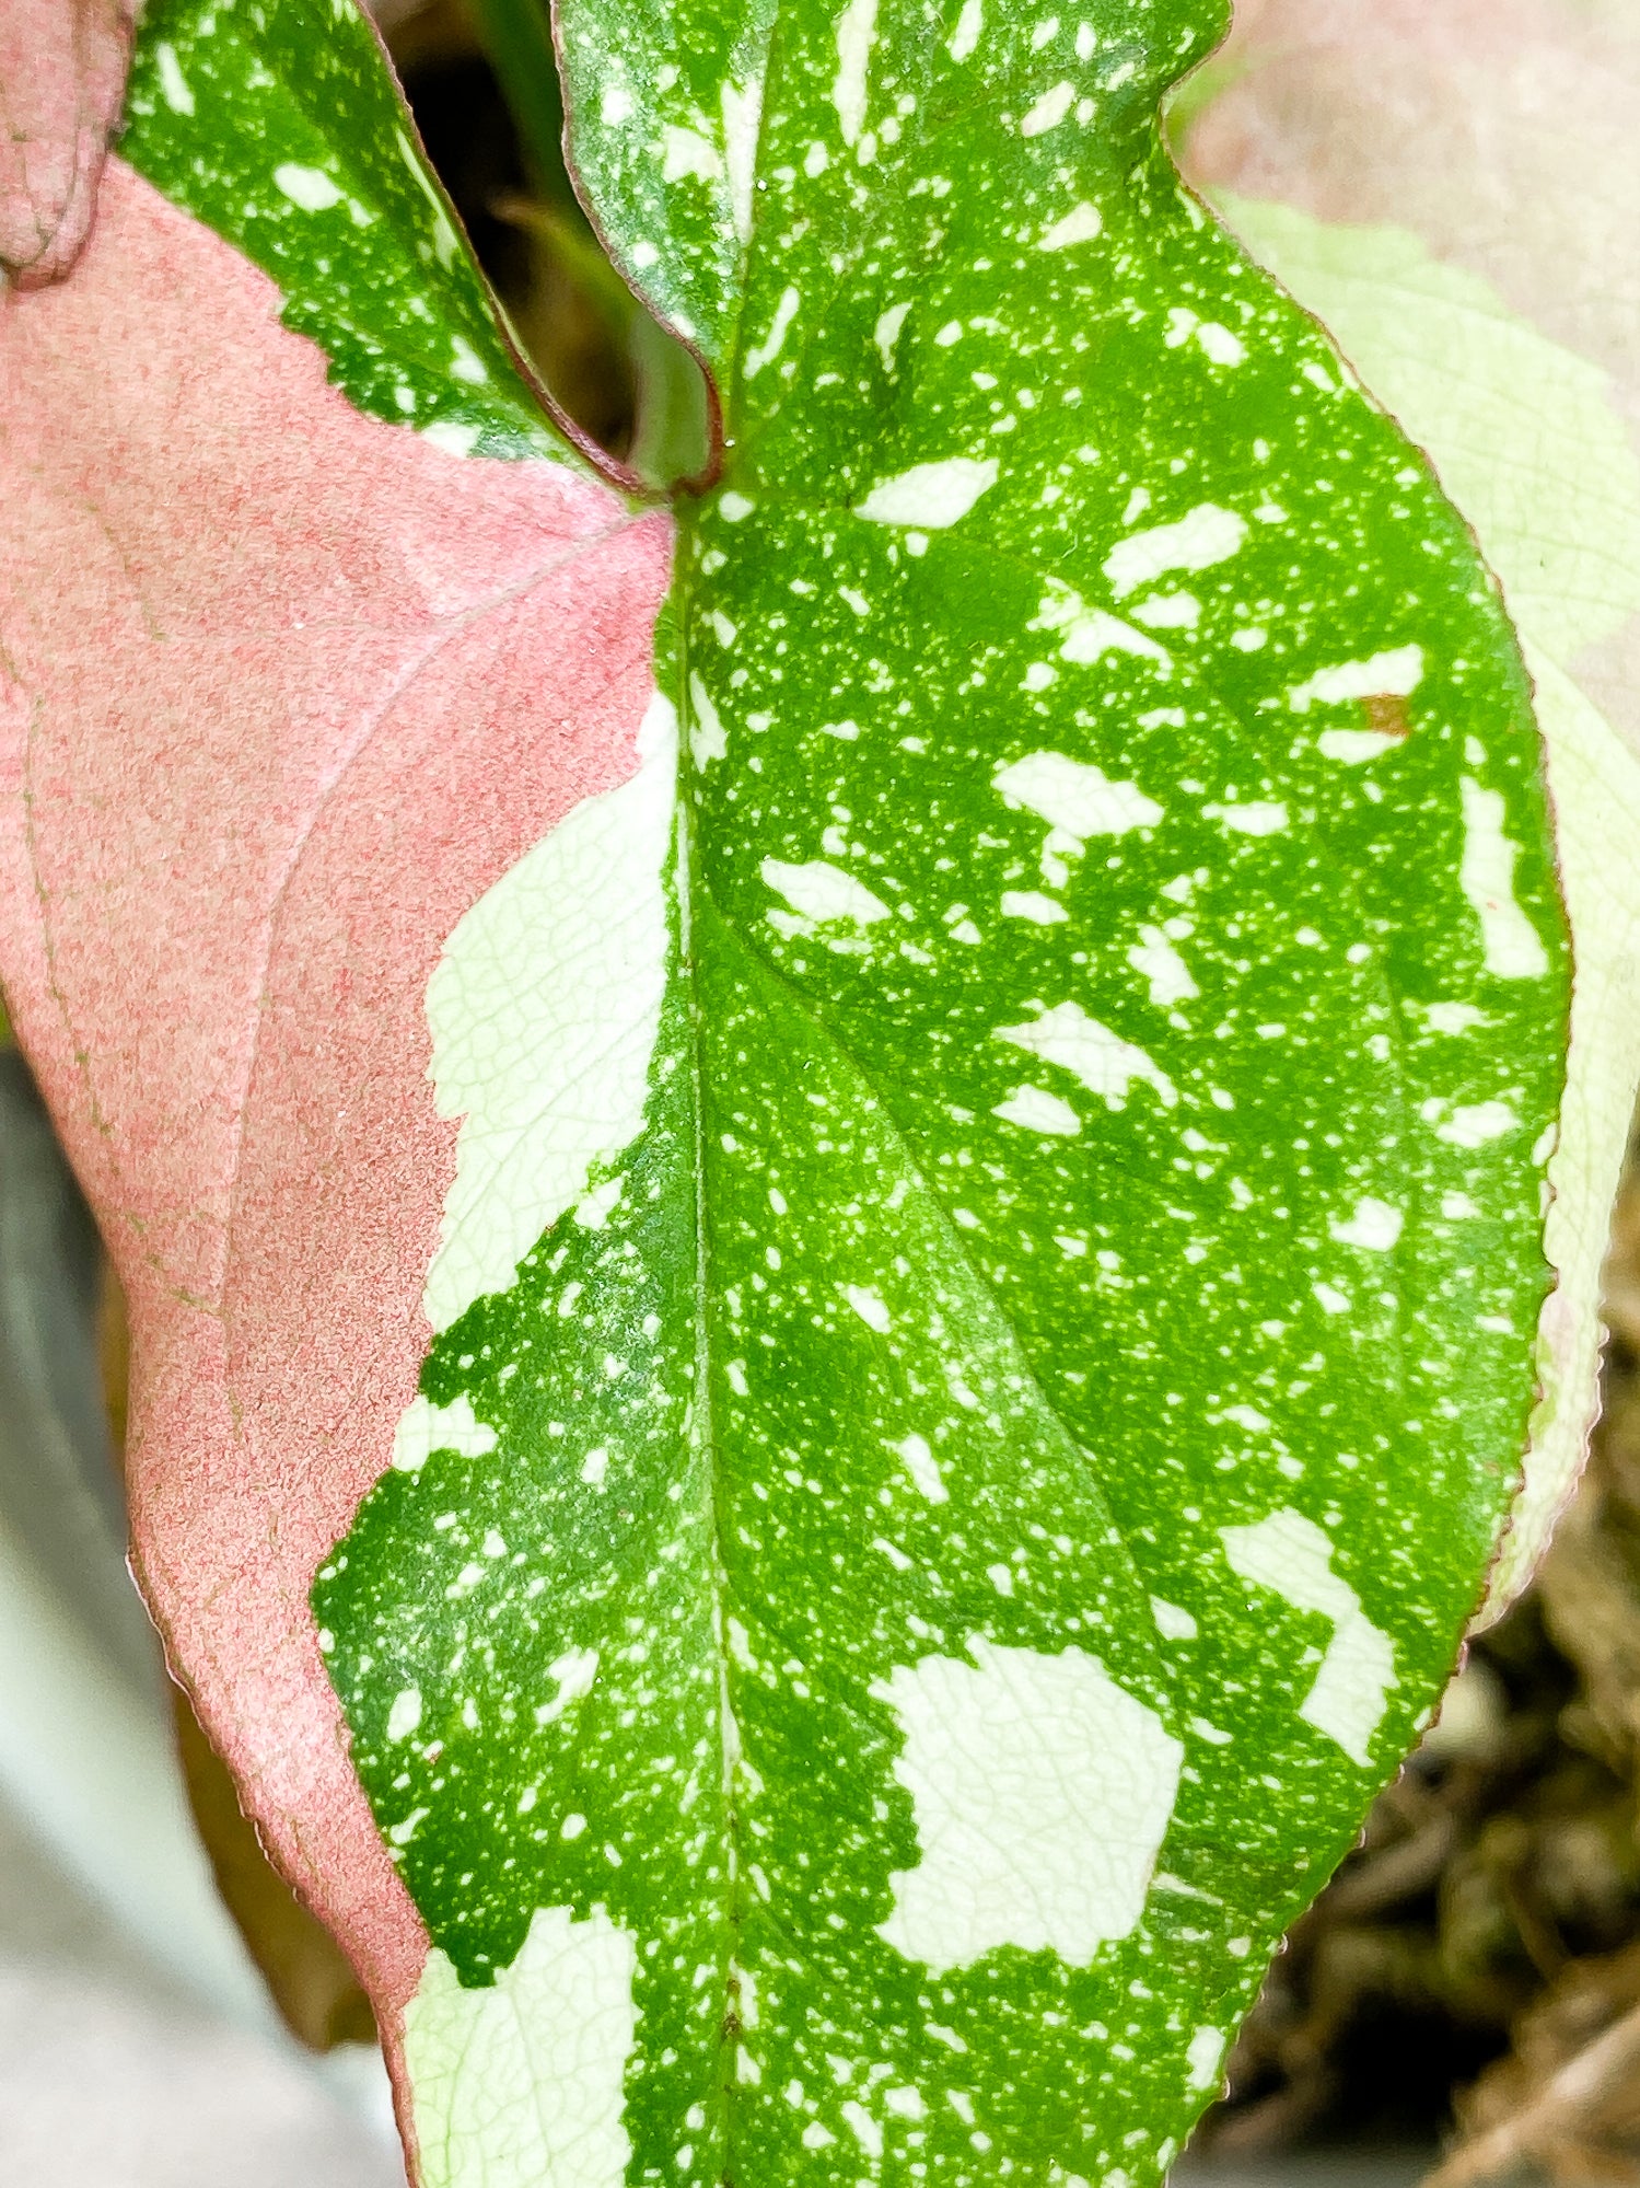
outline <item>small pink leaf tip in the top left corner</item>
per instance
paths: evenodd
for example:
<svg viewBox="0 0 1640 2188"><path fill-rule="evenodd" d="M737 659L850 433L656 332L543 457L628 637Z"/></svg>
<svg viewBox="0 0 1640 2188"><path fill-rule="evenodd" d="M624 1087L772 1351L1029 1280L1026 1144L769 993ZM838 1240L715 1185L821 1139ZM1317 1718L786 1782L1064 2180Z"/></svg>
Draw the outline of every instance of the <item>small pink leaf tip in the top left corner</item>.
<svg viewBox="0 0 1640 2188"><path fill-rule="evenodd" d="M0 0L0 267L61 280L92 225L136 0Z"/></svg>

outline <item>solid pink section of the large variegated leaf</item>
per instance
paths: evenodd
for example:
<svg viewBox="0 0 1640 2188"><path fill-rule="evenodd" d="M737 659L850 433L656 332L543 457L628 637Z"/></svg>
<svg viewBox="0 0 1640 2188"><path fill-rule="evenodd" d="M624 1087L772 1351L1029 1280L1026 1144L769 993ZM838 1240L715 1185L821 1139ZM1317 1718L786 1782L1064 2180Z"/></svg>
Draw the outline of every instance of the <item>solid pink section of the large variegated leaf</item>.
<svg viewBox="0 0 1640 2188"><path fill-rule="evenodd" d="M149 1602L391 2046L424 1934L308 1586L429 1343L429 974L634 770L669 527L359 416L278 306L120 160L0 300L0 956L131 1300Z"/></svg>

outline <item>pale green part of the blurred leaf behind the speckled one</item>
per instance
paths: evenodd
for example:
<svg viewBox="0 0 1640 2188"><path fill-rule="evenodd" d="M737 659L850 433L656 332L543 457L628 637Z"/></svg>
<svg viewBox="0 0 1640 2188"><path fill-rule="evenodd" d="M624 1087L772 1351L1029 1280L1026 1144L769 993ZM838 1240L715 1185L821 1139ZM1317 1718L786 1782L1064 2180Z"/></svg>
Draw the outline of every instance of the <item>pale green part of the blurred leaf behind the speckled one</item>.
<svg viewBox="0 0 1640 2188"><path fill-rule="evenodd" d="M1504 584L1548 744L1579 978L1563 1127L1548 1164L1559 1302L1539 1343L1524 1481L1487 1591L1496 1617L1531 1580L1583 1466L1601 1265L1640 1083L1640 886L1629 849L1640 761L1574 674L1588 645L1640 613L1640 462L1607 374L1415 234L1334 225L1231 190L1216 203L1439 466Z"/></svg>

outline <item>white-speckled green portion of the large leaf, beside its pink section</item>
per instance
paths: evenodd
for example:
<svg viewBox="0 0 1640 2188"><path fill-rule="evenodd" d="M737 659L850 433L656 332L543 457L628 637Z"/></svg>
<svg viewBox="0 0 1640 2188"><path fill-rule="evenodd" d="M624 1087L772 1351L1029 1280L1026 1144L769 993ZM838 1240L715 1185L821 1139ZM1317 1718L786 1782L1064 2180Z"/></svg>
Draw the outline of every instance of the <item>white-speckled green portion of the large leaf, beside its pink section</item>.
<svg viewBox="0 0 1640 2188"><path fill-rule="evenodd" d="M315 1588L442 2188L1155 2181L1480 1593L1537 733L1157 142L1218 28L564 9L726 453L645 770L429 993L437 1339Z"/></svg>

